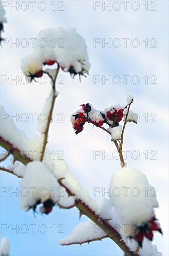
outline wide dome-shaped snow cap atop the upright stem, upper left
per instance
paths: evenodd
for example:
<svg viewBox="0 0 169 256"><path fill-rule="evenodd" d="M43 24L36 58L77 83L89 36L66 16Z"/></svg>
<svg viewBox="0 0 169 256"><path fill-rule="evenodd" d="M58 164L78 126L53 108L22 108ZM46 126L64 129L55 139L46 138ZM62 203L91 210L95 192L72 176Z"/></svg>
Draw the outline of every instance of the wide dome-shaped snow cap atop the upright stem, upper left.
<svg viewBox="0 0 169 256"><path fill-rule="evenodd" d="M26 75L35 74L46 61L56 61L63 71L74 75L88 74L90 68L86 42L73 27L40 31L34 51L22 60L21 69Z"/></svg>

